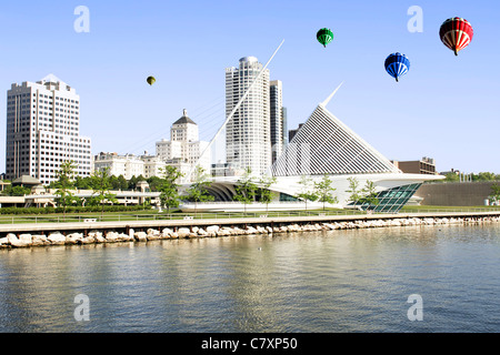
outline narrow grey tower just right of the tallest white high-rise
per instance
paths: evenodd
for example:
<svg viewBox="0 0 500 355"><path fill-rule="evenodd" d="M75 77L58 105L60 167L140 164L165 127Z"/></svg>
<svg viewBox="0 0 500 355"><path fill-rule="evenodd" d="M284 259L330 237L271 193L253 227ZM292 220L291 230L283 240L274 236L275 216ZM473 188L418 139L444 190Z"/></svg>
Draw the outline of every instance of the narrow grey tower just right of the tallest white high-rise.
<svg viewBox="0 0 500 355"><path fill-rule="evenodd" d="M272 160L276 162L278 156L283 152L286 143L286 114L287 110L283 108L283 84L280 80L273 80L269 85L270 94L270 125L271 125L271 148Z"/></svg>

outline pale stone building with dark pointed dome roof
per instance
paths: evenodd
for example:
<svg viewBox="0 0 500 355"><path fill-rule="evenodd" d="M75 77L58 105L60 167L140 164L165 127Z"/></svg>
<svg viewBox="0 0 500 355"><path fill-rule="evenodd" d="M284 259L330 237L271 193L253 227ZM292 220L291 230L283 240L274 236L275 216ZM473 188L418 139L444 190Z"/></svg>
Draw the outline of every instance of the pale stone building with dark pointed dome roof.
<svg viewBox="0 0 500 355"><path fill-rule="evenodd" d="M187 166L192 168L194 164L210 173L211 153L210 149L206 151L209 142L199 141L198 124L188 116L187 110L183 110L182 116L170 129L170 141L156 143L157 156L168 165L178 166L180 170L182 168L183 173L189 172ZM184 176L181 182L189 182L190 178Z"/></svg>

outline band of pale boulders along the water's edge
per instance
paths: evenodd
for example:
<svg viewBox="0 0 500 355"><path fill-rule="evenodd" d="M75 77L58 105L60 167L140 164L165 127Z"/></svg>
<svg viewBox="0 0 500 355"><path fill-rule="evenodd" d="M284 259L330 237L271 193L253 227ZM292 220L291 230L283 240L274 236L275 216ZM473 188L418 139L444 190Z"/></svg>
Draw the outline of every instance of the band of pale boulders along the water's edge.
<svg viewBox="0 0 500 355"><path fill-rule="evenodd" d="M293 232L317 232L333 230L353 230L372 227L396 227L396 226L426 226L426 225L449 225L449 224L483 224L498 223L500 216L481 217L404 217L387 220L354 220L342 222L320 222L320 223L280 223L279 225L209 225L189 227L163 227L147 229L146 231L134 231L130 229L128 233L118 231L92 230L87 235L83 233L61 233L51 232L46 234L14 234L8 233L0 237L0 248L50 246L50 245L83 245L94 243L119 243L119 242L148 242L156 240L174 239L198 239L198 237L220 237L231 235L248 234L274 234Z"/></svg>

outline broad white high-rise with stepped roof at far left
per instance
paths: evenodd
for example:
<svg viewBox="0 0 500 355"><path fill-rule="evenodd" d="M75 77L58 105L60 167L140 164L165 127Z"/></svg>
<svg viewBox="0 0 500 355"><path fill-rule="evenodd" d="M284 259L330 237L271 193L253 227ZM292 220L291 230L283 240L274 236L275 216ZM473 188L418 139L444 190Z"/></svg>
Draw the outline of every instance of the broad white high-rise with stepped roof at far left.
<svg viewBox="0 0 500 355"><path fill-rule="evenodd" d="M49 184L69 160L78 175L90 175L91 141L80 136L76 90L52 74L13 83L7 92L6 179L30 175Z"/></svg>

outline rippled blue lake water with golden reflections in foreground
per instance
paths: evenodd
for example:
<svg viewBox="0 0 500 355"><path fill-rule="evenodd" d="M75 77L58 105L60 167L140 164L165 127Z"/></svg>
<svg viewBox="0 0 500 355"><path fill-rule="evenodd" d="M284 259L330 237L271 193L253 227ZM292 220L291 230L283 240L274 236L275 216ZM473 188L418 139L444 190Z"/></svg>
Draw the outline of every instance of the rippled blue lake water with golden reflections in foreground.
<svg viewBox="0 0 500 355"><path fill-rule="evenodd" d="M500 225L0 251L0 332L499 332ZM77 322L74 297L89 297ZM422 297L410 322L408 297Z"/></svg>

